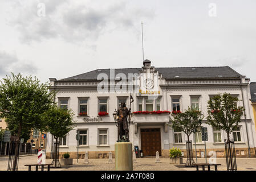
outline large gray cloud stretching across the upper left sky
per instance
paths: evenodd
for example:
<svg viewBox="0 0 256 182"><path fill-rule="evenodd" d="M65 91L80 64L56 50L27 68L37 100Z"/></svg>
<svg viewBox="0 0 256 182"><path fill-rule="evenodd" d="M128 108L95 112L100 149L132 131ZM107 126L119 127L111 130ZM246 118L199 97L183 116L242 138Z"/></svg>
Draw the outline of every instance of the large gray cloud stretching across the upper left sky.
<svg viewBox="0 0 256 182"><path fill-rule="evenodd" d="M152 10L132 8L124 1L105 6L97 1L99 6L92 6L90 3L73 5L70 0L44 0L46 16L39 17L38 2L24 1L12 4L10 14L13 15L8 23L17 28L25 43L59 37L67 42L95 41L104 32L133 30L138 21L155 16Z"/></svg>

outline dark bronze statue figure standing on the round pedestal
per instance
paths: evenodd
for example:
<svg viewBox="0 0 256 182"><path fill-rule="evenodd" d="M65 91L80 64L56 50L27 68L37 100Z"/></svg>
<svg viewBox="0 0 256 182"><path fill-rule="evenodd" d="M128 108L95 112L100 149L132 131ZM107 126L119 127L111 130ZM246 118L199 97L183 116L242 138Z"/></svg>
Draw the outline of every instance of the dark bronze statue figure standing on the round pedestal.
<svg viewBox="0 0 256 182"><path fill-rule="evenodd" d="M118 142L129 142L128 133L128 114L131 113L131 107L128 109L124 102L121 102L121 106L117 110L117 122L118 122Z"/></svg>

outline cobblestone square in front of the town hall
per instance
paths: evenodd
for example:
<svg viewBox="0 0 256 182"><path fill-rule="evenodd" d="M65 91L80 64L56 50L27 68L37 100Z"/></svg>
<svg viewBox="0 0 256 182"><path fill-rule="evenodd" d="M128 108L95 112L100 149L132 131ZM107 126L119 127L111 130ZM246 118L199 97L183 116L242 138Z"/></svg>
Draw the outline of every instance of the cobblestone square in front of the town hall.
<svg viewBox="0 0 256 182"><path fill-rule="evenodd" d="M114 160L114 159L113 159ZM195 167L185 167L185 164L176 165L170 164L169 158L160 158L160 163L155 162L155 158L139 158L137 163L133 163L134 171L196 171ZM196 159L194 159L196 162ZM19 171L27 171L28 167L25 164L36 164L37 155L21 156L19 158ZM46 163L51 163L51 159L47 159ZM51 168L51 171L114 171L115 163L108 163L108 159L89 159L88 164L84 163L84 159L73 160L72 166L62 166L61 168ZM186 162L186 158L183 159ZM198 158L198 163L205 163L205 158ZM219 171L226 171L226 159L217 158ZM6 171L8 166L8 157L0 157L0 170ZM31 168L35 170L35 167ZM238 171L256 171L256 158L237 158ZM39 169L40 170L40 169ZM201 170L201 168L200 168ZM206 169L207 170L207 169ZM214 167L211 167L214 170Z"/></svg>

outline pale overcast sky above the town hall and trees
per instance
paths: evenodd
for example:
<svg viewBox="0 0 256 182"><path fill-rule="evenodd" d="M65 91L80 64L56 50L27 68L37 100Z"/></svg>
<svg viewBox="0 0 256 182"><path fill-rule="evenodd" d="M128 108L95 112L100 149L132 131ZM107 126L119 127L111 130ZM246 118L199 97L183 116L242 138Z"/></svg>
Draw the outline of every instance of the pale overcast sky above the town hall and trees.
<svg viewBox="0 0 256 182"><path fill-rule="evenodd" d="M1 0L0 78L140 68L141 22L153 66L229 65L256 81L255 0Z"/></svg>

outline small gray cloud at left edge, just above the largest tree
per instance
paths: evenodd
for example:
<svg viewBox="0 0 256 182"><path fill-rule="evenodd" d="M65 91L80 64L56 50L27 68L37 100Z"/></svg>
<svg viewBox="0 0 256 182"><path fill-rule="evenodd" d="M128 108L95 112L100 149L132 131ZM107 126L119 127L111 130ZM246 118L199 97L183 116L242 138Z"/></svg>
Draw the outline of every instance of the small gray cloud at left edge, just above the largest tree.
<svg viewBox="0 0 256 182"><path fill-rule="evenodd" d="M16 55L0 51L0 76L10 75L14 73L36 73L37 68L23 60L19 60Z"/></svg>

